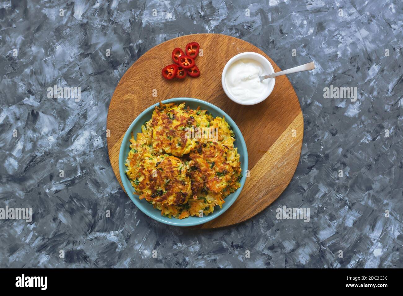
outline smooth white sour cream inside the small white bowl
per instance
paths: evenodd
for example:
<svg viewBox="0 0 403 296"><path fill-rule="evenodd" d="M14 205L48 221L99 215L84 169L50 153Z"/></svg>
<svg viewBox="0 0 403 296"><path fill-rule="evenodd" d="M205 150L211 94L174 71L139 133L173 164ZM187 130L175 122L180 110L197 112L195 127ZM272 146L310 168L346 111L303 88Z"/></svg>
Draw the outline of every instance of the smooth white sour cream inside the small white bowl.
<svg viewBox="0 0 403 296"><path fill-rule="evenodd" d="M241 101L254 101L268 88L266 79L260 82L258 75L265 75L264 68L256 60L241 59L231 64L225 74L225 85L229 93Z"/></svg>

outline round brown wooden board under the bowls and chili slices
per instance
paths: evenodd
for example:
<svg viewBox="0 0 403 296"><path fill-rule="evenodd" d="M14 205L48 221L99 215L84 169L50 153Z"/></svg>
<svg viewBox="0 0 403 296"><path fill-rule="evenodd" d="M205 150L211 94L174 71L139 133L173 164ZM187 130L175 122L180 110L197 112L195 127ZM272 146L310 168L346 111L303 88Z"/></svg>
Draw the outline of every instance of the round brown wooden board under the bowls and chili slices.
<svg viewBox="0 0 403 296"><path fill-rule="evenodd" d="M192 41L203 49L204 55L196 59L200 77L165 80L161 69L172 63L172 50L184 49ZM152 104L174 97L194 97L218 106L238 125L248 149L250 176L237 201L200 228L229 226L264 210L291 181L301 153L302 111L286 76L277 77L270 97L257 105L242 106L226 97L221 73L226 62L241 52L262 54L272 63L275 72L280 71L264 52L241 39L221 34L186 35L161 43L143 54L120 79L109 105L108 153L120 186L118 161L123 136L131 122ZM157 91L157 97L153 96L153 90Z"/></svg>

